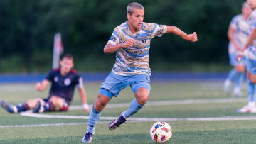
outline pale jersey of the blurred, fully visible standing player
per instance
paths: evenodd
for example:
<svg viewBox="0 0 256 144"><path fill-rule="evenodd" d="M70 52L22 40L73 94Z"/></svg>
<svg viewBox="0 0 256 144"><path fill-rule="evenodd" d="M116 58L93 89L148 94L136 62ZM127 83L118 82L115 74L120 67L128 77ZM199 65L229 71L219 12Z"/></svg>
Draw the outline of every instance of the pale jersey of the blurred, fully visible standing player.
<svg viewBox="0 0 256 144"><path fill-rule="evenodd" d="M242 14L239 14L232 19L230 27L235 29L235 41L242 48L249 38L249 24L247 20L242 16ZM238 50L236 50L235 46L231 42L228 45L228 53L238 53Z"/></svg>

